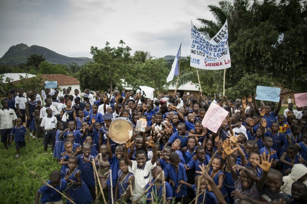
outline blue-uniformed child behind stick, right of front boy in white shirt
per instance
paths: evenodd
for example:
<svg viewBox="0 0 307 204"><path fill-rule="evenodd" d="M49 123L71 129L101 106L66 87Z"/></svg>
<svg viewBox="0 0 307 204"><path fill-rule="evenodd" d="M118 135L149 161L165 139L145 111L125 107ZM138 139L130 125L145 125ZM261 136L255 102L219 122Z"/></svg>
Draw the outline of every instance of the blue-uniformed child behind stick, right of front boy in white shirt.
<svg viewBox="0 0 307 204"><path fill-rule="evenodd" d="M151 172L152 172L153 179L146 185L146 189L150 187L149 190L145 194L147 195L146 201L147 202L154 202L154 201L161 202L161 200L163 199L162 198L163 196L163 192L162 192L163 176L162 174L159 176L159 174L162 172L162 168L159 166L153 167ZM155 179L157 179L156 182L154 182ZM165 201L167 204L170 204L171 201L173 200L173 190L168 182L164 181L164 184L165 184Z"/></svg>

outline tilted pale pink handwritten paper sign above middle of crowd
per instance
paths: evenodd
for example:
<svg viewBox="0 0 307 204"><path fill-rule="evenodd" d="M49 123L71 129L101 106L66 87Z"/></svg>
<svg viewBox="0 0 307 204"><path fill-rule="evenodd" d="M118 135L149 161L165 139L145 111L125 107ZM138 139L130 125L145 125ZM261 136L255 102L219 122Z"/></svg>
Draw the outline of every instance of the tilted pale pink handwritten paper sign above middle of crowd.
<svg viewBox="0 0 307 204"><path fill-rule="evenodd" d="M228 111L212 103L209 106L209 109L206 112L201 124L212 132L216 133L227 115Z"/></svg>

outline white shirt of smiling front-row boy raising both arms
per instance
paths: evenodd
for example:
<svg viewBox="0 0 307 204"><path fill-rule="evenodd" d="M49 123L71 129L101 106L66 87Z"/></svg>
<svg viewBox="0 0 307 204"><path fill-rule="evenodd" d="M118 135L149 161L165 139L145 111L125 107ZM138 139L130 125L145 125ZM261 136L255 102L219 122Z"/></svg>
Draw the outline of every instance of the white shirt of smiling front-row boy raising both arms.
<svg viewBox="0 0 307 204"><path fill-rule="evenodd" d="M146 161L144 169L138 168L138 163L132 161L132 166L129 166L129 172L133 173L135 181L133 188L133 198L134 200L138 199L143 195L143 192L146 190L146 184L153 179L151 175L151 169L156 166L156 163L152 164L151 160Z"/></svg>

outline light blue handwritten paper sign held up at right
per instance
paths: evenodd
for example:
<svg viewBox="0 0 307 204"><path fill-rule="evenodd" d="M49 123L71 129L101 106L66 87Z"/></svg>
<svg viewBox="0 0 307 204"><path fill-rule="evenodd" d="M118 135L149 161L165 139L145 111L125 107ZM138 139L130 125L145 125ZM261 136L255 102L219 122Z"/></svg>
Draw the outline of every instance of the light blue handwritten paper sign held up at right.
<svg viewBox="0 0 307 204"><path fill-rule="evenodd" d="M279 102L280 88L268 87L268 86L257 86L256 89L256 99L257 100L267 100Z"/></svg>

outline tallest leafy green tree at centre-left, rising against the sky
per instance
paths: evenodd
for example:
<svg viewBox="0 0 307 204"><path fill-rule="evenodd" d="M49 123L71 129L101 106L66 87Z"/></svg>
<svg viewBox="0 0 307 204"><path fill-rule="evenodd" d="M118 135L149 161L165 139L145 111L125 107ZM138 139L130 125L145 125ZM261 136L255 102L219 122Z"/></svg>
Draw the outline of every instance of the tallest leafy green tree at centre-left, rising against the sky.
<svg viewBox="0 0 307 204"><path fill-rule="evenodd" d="M103 89L106 90L115 87L120 89L122 79L129 73L132 59L130 56L131 48L126 46L120 40L121 46L110 47L110 43L106 42L103 49L98 47L91 47L91 54L93 55L93 62L87 63L81 67L79 74L80 88L88 89Z"/></svg>

